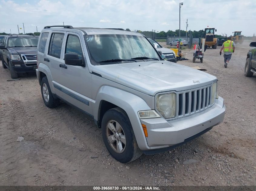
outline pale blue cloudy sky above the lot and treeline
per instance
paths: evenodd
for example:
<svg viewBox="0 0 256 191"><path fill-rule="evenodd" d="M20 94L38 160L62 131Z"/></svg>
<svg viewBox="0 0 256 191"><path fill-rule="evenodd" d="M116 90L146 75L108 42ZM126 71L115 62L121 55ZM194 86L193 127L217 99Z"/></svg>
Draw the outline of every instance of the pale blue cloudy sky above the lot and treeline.
<svg viewBox="0 0 256 191"><path fill-rule="evenodd" d="M256 35L255 0L0 0L0 32L38 32L48 25L168 31L217 29ZM24 23L24 28L23 28ZM17 26L18 25L18 26Z"/></svg>

